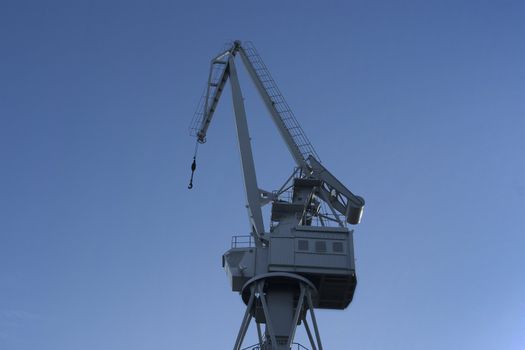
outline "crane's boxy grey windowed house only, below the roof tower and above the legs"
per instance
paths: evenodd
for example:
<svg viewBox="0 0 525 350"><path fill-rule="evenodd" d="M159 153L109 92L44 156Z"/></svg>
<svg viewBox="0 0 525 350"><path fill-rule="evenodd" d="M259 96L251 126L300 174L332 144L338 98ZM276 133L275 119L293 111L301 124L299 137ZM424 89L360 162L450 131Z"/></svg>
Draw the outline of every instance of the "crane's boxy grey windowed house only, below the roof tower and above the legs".
<svg viewBox="0 0 525 350"><path fill-rule="evenodd" d="M296 226L287 233L270 234L263 247L239 247L239 236L235 238L222 258L233 291L240 292L255 275L290 272L317 288L318 308L345 309L352 301L357 284L353 230Z"/></svg>

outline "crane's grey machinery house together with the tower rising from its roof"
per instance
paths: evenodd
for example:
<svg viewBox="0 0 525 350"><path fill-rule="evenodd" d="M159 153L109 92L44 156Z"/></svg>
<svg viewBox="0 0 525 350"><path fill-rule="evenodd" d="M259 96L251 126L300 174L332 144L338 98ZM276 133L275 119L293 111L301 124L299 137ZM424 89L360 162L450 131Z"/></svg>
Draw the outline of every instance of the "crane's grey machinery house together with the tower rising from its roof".
<svg viewBox="0 0 525 350"><path fill-rule="evenodd" d="M317 288L316 307L345 309L350 304L357 284L353 230L318 225L320 186L319 180L297 178L290 199L274 201L266 245L242 247L238 238L232 241L223 267L234 291L256 274L289 272Z"/></svg>

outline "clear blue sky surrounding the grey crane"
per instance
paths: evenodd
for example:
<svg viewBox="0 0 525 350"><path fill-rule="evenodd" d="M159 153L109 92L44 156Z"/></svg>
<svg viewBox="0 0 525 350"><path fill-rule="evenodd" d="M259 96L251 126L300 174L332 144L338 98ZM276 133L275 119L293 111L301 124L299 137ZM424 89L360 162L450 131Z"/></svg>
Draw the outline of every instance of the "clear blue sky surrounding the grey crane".
<svg viewBox="0 0 525 350"><path fill-rule="evenodd" d="M186 186L209 60L235 39L367 200L325 348L525 349L524 18L521 0L1 1L0 349L233 346L229 91ZM293 163L241 78L272 190Z"/></svg>

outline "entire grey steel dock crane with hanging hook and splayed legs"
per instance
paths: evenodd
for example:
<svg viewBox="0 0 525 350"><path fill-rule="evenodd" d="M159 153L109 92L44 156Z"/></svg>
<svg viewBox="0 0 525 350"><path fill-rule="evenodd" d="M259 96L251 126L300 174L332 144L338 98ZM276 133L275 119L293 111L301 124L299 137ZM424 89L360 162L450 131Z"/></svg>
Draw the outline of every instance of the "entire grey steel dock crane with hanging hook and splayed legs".
<svg viewBox="0 0 525 350"><path fill-rule="evenodd" d="M262 190L257 184L235 65L238 56L296 164L281 188L273 192ZM231 249L222 257L232 291L239 292L246 304L233 349L306 349L293 342L297 326L303 324L312 350L322 350L314 309L341 310L352 301L357 279L353 230L348 224L360 222L364 199L350 192L321 164L250 42L235 41L211 60L208 83L190 127L197 145L206 142L228 80L251 226L249 236L232 238ZM192 180L195 167L194 157ZM261 210L267 204L271 204L268 229ZM258 344L242 348L252 320Z"/></svg>

